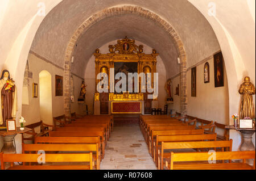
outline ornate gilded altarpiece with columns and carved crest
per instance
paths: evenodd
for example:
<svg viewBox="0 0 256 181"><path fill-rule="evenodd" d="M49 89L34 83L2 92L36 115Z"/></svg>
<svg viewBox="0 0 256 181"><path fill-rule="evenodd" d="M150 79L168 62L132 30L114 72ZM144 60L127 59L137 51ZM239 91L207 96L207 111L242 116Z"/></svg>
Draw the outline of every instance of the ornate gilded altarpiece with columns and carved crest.
<svg viewBox="0 0 256 181"><path fill-rule="evenodd" d="M109 53L107 54L101 54L99 49L96 49L96 52L94 53L95 56L95 73L96 77L98 73L106 73L108 74L108 100L106 100L106 93L103 95L102 93L99 93L97 91L97 85L101 81L100 79L96 79L96 93L94 94L94 101L104 101L104 103L101 103L101 114L107 113L106 110L109 110L109 113L121 113L120 112L113 112L113 104L107 104L106 102L122 102L129 103L129 105L132 102L143 102L144 103L144 113L150 113L151 111L151 102L152 99L147 99L148 93L141 91L141 78L139 78L139 92L128 92L128 87L126 92L116 93L116 92L110 92L110 68L115 68L114 64L115 62L136 62L137 63L137 71L138 74L144 72L151 73L151 87L154 87L154 73L156 73L156 57L159 54L156 53L156 50L152 50L151 54L145 54L143 53L143 45L136 45L135 40L128 39L125 37L125 39L118 40L116 45L109 45ZM127 64L129 65L129 64ZM112 81L111 81L112 82ZM115 81L113 81L115 82ZM112 85L114 87L114 85ZM134 89L134 87L133 87ZM104 96L104 99L101 99L101 97ZM146 100L145 100L146 98ZM110 106L110 108L106 108L106 106ZM129 107L129 106L128 106ZM139 106L137 106L139 107ZM103 111L105 110L105 111ZM111 110L111 111L110 111ZM123 110L122 110L123 111ZM142 113L142 108L140 107L140 110L135 111L137 113ZM122 112L123 113L123 112ZM134 113L129 112L129 110L126 110L125 113Z"/></svg>

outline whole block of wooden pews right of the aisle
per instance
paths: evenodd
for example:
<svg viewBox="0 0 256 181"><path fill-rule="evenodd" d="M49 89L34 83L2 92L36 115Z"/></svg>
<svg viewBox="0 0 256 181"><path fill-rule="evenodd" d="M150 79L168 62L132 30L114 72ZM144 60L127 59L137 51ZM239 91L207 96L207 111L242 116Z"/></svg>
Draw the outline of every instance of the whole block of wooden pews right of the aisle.
<svg viewBox="0 0 256 181"><path fill-rule="evenodd" d="M197 120L180 115L141 115L141 132L158 169L255 170L255 151L232 151L232 140L226 135L224 140L217 140L213 121L200 119L198 126ZM246 159L254 159L254 165L247 164Z"/></svg>

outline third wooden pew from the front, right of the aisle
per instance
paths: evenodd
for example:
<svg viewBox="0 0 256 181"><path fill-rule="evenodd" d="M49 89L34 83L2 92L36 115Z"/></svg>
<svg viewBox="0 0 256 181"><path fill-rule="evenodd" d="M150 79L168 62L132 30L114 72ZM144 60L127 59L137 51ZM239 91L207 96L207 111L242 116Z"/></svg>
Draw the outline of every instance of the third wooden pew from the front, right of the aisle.
<svg viewBox="0 0 256 181"><path fill-rule="evenodd" d="M216 141L216 133L214 134L179 134L179 135L168 135L158 136L156 135L156 141L153 145L153 155L156 166L158 166L158 150L160 149L161 142L174 142L174 141Z"/></svg>

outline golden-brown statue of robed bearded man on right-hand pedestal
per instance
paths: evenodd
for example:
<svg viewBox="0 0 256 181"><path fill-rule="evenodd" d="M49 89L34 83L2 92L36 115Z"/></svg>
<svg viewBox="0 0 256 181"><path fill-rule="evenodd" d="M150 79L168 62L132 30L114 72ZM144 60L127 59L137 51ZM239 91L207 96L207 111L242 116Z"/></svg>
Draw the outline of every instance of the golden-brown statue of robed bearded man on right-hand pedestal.
<svg viewBox="0 0 256 181"><path fill-rule="evenodd" d="M250 117L250 119L255 118L255 111L253 106L253 95L255 94L255 87L253 83L250 82L250 77L245 77L245 82L243 82L238 90L239 94L242 95L241 105L240 105L240 119L245 117Z"/></svg>

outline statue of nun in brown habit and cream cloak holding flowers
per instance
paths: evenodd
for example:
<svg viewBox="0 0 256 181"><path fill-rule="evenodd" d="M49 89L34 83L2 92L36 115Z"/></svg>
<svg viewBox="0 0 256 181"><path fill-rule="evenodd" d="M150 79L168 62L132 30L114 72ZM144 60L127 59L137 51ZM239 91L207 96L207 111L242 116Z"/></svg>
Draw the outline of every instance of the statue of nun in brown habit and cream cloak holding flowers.
<svg viewBox="0 0 256 181"><path fill-rule="evenodd" d="M6 120L13 119L17 111L17 95L16 86L13 79L10 78L8 70L2 71L0 78L1 89L1 111L0 111L0 126L6 127Z"/></svg>

